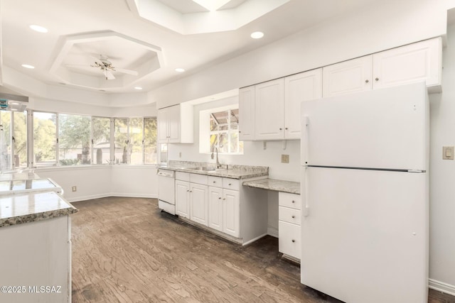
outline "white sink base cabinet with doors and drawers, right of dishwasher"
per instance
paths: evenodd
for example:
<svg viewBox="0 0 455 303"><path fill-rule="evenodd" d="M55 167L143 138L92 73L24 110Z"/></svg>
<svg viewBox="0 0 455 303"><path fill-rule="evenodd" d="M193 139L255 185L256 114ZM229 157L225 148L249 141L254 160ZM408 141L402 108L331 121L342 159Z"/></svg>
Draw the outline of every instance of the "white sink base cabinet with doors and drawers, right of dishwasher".
<svg viewBox="0 0 455 303"><path fill-rule="evenodd" d="M176 172L176 214L243 245L262 238L267 235L267 192L241 181Z"/></svg>

